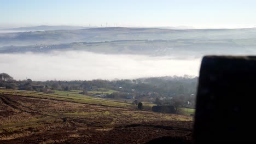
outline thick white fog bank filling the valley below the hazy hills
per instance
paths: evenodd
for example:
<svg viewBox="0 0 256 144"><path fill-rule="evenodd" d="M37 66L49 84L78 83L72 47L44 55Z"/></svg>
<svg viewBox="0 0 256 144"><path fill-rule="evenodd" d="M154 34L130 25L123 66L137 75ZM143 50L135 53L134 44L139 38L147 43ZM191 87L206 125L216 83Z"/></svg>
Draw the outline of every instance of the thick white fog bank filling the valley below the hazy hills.
<svg viewBox="0 0 256 144"><path fill-rule="evenodd" d="M0 72L16 80L135 79L166 75L199 75L201 59L142 55L105 55L81 51L1 53Z"/></svg>

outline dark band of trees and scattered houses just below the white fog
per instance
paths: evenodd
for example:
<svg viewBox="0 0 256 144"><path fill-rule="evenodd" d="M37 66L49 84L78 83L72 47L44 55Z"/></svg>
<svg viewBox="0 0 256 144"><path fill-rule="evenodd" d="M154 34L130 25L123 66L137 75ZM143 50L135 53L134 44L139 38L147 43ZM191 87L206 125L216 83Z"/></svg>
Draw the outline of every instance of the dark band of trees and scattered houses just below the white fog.
<svg viewBox="0 0 256 144"><path fill-rule="evenodd" d="M106 94L108 98L126 99L136 97L139 101L154 101L159 105L195 104L195 92L198 77L164 76L147 77L133 80L73 80L73 81L16 81L8 74L0 74L0 87L54 93L59 91L80 90L80 94L90 91L104 92L112 89L116 92ZM185 104L188 103L188 104Z"/></svg>

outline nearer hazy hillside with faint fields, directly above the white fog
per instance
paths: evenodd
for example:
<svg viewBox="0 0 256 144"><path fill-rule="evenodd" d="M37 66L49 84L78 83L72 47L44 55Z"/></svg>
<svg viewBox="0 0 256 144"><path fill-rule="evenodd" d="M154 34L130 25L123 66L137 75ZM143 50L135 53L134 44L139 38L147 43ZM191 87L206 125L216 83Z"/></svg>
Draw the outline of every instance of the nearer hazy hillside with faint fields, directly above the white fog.
<svg viewBox="0 0 256 144"><path fill-rule="evenodd" d="M255 55L256 39L113 40L54 45L4 46L0 53L87 51L106 54L199 58L203 55Z"/></svg>

